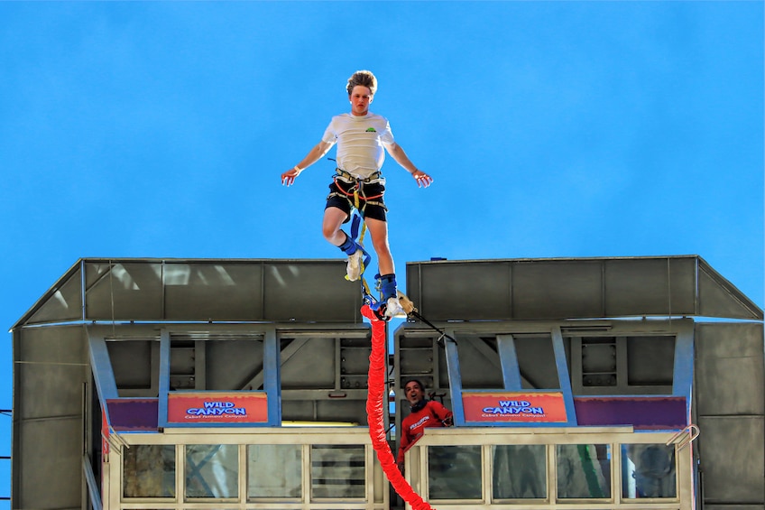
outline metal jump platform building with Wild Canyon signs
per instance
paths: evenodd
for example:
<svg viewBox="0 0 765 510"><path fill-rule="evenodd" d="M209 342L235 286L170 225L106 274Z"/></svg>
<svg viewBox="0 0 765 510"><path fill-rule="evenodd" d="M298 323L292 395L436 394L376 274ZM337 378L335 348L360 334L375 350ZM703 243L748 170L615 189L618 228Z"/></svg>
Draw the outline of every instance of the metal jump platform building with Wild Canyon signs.
<svg viewBox="0 0 765 510"><path fill-rule="evenodd" d="M12 329L14 509L402 507L343 261L82 259ZM763 315L698 256L407 264L438 508L765 508ZM394 412L395 410L395 412Z"/></svg>

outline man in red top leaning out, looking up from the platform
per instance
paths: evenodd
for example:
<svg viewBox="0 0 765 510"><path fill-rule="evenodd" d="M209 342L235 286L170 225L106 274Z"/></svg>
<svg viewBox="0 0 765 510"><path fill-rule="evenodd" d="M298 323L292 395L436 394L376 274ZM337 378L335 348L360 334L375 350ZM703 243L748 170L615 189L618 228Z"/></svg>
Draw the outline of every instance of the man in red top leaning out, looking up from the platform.
<svg viewBox="0 0 765 510"><path fill-rule="evenodd" d="M404 453L422 436L428 427L451 427L452 412L443 404L425 398L425 386L417 379L404 385L404 395L410 403L411 413L401 422L401 445L396 462L403 471Z"/></svg>

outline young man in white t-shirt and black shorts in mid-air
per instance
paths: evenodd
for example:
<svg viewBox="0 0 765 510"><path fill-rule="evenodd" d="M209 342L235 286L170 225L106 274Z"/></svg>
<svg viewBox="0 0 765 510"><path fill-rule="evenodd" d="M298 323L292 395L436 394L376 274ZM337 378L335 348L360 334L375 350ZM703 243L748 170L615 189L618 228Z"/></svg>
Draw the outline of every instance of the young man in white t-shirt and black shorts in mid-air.
<svg viewBox="0 0 765 510"><path fill-rule="evenodd" d="M329 185L327 206L324 209L322 231L331 244L348 255L348 280L354 282L361 277L364 253L350 236L340 227L348 221L351 209L357 208L364 218L372 236L372 245L377 253L380 269L380 292L383 294L385 317L405 316L397 297L396 274L388 245L388 223L383 203L385 180L380 172L385 160L383 148L391 154L411 176L419 187L428 187L433 179L418 170L401 145L393 140L388 119L369 111L377 79L368 70L356 71L346 88L351 102L351 112L332 117L324 136L301 162L281 174L281 183L290 186L306 168L318 162L332 145L337 144L336 176Z"/></svg>

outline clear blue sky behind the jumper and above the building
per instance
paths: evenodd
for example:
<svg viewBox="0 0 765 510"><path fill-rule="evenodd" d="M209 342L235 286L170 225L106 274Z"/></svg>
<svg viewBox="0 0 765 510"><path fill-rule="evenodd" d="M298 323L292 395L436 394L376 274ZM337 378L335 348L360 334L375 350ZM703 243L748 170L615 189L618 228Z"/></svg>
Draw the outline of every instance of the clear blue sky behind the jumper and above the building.
<svg viewBox="0 0 765 510"><path fill-rule="evenodd" d="M280 174L360 69L435 179L383 167L400 274L701 255L763 306L761 1L20 2L0 4L2 323L80 257L339 255L332 163ZM10 408L10 335L0 361Z"/></svg>

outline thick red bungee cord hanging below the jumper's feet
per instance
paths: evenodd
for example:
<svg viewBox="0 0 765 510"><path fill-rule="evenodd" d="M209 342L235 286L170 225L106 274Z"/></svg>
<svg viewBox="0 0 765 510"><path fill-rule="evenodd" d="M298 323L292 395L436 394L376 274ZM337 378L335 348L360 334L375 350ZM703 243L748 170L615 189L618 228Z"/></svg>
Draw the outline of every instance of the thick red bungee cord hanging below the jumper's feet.
<svg viewBox="0 0 765 510"><path fill-rule="evenodd" d="M366 394L366 416L369 422L369 437L377 453L377 459L383 466L383 472L388 481L404 501L411 505L412 510L434 510L409 485L401 475L396 459L393 458L391 447L385 440L385 425L383 422L383 403L385 397L385 322L374 315L374 311L365 304L361 309L362 315L372 323L372 354L369 355L369 375Z"/></svg>

